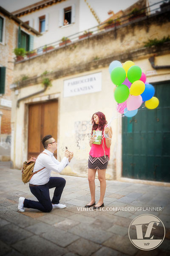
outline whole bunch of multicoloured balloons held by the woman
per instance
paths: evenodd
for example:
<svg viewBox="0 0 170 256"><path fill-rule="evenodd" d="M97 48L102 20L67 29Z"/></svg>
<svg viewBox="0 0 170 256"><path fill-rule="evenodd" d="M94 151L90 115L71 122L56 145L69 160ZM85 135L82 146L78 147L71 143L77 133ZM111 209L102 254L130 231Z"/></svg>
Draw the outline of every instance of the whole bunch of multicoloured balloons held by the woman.
<svg viewBox="0 0 170 256"><path fill-rule="evenodd" d="M138 108L145 102L148 109L157 108L159 99L154 97L155 89L153 85L146 82L146 76L141 68L133 61L112 61L109 66L111 80L116 85L114 98L117 111L127 117L135 116Z"/></svg>

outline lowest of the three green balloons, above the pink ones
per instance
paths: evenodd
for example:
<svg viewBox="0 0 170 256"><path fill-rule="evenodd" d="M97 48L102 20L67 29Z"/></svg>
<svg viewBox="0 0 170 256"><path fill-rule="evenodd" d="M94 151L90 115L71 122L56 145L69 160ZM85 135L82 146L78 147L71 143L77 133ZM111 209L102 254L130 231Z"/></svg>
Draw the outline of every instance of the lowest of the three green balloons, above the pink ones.
<svg viewBox="0 0 170 256"><path fill-rule="evenodd" d="M114 91L116 102L122 103L129 97L129 88L125 84L120 84Z"/></svg>

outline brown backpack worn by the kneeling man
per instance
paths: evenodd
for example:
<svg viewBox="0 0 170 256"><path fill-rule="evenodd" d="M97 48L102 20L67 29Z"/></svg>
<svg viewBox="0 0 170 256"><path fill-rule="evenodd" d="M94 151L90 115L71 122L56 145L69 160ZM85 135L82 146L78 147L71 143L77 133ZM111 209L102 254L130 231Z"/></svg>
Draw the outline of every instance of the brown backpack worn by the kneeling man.
<svg viewBox="0 0 170 256"><path fill-rule="evenodd" d="M46 154L46 153L42 152L41 154ZM27 160L23 163L23 168L22 168L23 183L26 184L28 181L31 180L31 177L34 174L36 174L37 172L40 172L41 170L43 170L45 168L45 167L43 167L42 169L38 170L37 172L33 172L36 160L37 160L36 157L31 157L29 160Z"/></svg>

